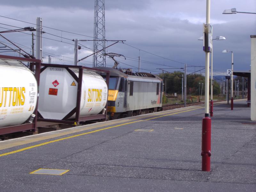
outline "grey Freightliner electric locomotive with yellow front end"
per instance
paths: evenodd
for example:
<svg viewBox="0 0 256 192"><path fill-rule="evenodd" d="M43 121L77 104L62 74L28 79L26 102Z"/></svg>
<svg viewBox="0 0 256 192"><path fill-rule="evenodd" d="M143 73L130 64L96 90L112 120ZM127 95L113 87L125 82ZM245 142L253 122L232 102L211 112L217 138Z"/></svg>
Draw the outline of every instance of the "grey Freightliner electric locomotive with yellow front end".
<svg viewBox="0 0 256 192"><path fill-rule="evenodd" d="M110 71L108 113L112 118L156 112L162 107L163 82L158 76L99 68Z"/></svg>

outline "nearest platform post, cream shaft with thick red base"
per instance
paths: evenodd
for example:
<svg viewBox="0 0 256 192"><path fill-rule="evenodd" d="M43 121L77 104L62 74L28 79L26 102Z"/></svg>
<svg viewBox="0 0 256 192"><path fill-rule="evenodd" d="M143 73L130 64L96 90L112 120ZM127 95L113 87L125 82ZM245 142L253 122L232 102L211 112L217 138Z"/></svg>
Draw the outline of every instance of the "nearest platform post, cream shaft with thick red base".
<svg viewBox="0 0 256 192"><path fill-rule="evenodd" d="M210 0L206 0L206 25L210 24ZM208 34L206 34L208 36ZM209 62L210 53L205 52L205 101L202 122L202 171L211 171L211 118L209 117Z"/></svg>

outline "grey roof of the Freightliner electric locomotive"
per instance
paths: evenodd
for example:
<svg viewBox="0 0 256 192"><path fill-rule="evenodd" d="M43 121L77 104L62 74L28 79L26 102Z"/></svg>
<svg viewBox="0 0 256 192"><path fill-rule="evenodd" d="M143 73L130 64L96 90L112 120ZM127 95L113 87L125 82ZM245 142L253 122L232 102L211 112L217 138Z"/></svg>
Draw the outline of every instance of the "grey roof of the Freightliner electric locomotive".
<svg viewBox="0 0 256 192"><path fill-rule="evenodd" d="M123 76L123 77L127 77L127 78L134 78L134 79L154 79L154 80L160 80L162 81L162 79L156 75L153 75L151 73L132 73L134 75L127 75L125 73L123 73L122 71L115 69L115 68L109 68L109 67L97 67L99 69L104 69L104 70L108 70L110 72L110 76ZM137 74L137 75L136 75ZM138 74L143 74L144 76L139 76Z"/></svg>

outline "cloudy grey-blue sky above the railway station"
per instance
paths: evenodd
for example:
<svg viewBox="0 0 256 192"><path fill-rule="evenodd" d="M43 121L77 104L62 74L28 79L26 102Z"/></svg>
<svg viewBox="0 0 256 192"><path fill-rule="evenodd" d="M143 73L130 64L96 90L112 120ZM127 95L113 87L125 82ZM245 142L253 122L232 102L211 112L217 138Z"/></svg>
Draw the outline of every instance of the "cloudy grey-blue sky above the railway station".
<svg viewBox="0 0 256 192"><path fill-rule="evenodd" d="M256 35L256 14L222 14L224 9L230 8L239 12L256 12L256 1L211 1L213 37L226 38L213 41L215 76L225 75L231 68L231 53L222 53L224 49L233 51L235 71L250 70L250 35ZM1 2L0 31L36 27L36 17L42 18L43 31L46 32L43 34L43 61L48 62L50 55L52 63L74 65L72 39L93 39L94 0L4 1ZM162 72L161 69L182 71L177 68L184 68L186 63L187 74L198 70L197 73L204 74L203 41L197 39L203 36L205 20L206 0L105 0L105 37L107 40L125 40L107 48L106 52L124 55L126 59L116 57L118 67L132 68L135 72L138 71L140 56L141 71L153 74ZM31 32L2 35L20 45L24 51L32 52ZM1 37L0 42L9 43ZM79 43L82 49L78 51L78 59L92 54L92 41ZM106 46L110 44L112 42L107 42ZM13 45L10 46L13 48ZM14 52L0 54L17 56ZM88 57L79 64L92 67L92 59L92 56ZM112 67L114 62L107 58L106 64Z"/></svg>

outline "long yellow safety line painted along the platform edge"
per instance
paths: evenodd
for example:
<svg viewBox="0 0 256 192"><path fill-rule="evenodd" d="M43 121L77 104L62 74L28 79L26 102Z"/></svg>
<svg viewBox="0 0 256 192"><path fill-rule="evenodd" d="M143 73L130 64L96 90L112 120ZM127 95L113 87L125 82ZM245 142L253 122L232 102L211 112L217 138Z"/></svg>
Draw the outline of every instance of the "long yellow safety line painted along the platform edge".
<svg viewBox="0 0 256 192"><path fill-rule="evenodd" d="M220 104L222 104L222 103L220 103ZM220 105L220 104L217 104L217 105ZM204 107L200 107L200 108L204 108ZM41 143L41 144L38 144L38 145L32 145L30 147L26 147L26 148L18 149L18 150L15 150L15 151L11 151L11 152L8 152L8 153L3 153L3 154L0 154L0 157L10 155L10 154L13 154L13 153L18 153L18 152L21 152L21 151L25 151L25 150L28 150L28 149L31 149L31 148L40 147L40 146L47 145L47 144L50 144L50 143L54 143L54 142L57 142L57 141L62 141L62 140L66 140L66 139L70 139L70 138L74 138L74 137L78 137L78 136L82 136L82 135L87 135L87 134L90 134L90 133L95 133L95 132L111 129L111 128L114 128L114 127L120 127L120 126L123 126L123 125L138 123L138 122L141 122L141 121L148 121L148 120L152 120L152 119L156 119L156 118L160 118L160 117L164 117L164 116L175 115L175 114L178 114L178 113L184 113L184 112L188 112L188 111L192 111L192 110L196 110L196 109L200 109L200 108L194 108L194 109L189 109L189 110L186 110L186 111L180 111L180 112L167 114L167 115L162 115L162 116L157 116L157 117L153 117L153 118L149 118L149 119L133 121L133 122L124 123L124 124L120 124L120 125L115 125L115 126L111 126L111 127L107 127L107 128L103 128L103 129L98 129L98 130L91 131L91 132L81 133L81 134L77 134L77 135L73 135L73 136L69 136L69 137L65 137L65 138L61 138L61 139L57 139L57 140L52 140L52 141L44 142L44 143Z"/></svg>

